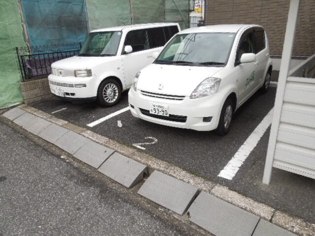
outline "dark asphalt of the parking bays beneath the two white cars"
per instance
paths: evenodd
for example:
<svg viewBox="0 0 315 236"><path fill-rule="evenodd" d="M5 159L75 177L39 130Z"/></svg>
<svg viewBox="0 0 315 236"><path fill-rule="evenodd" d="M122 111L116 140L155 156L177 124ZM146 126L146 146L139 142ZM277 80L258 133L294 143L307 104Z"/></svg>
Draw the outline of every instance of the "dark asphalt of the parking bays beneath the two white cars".
<svg viewBox="0 0 315 236"><path fill-rule="evenodd" d="M77 124L119 143L142 146L145 153L172 163L192 174L227 186L253 200L292 216L315 222L315 180L273 168L269 185L262 184L270 127L263 134L232 180L218 177L221 170L273 108L276 88L266 94L255 93L234 115L230 133L224 137L213 132L198 132L154 124L132 117L129 111L94 127L87 124L128 107L127 92L114 107L96 103L69 103L51 98L32 107ZM62 110L63 109L63 110ZM118 126L118 121L122 127ZM153 139L146 139L152 137ZM306 194L305 194L306 193Z"/></svg>

